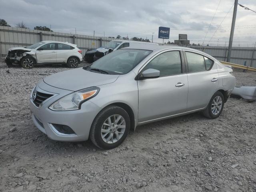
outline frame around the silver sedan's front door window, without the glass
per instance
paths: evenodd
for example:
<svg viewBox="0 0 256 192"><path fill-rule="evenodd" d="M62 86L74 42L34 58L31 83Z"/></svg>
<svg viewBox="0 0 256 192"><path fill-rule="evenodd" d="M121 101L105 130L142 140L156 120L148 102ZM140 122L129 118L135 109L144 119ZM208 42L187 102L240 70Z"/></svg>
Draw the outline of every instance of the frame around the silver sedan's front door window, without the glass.
<svg viewBox="0 0 256 192"><path fill-rule="evenodd" d="M139 73L138 75L135 77L135 80L139 80L138 77L140 77L141 73L143 72L143 69L156 57L158 57L159 55L166 53L166 52L171 52L171 51L178 51L180 52L180 62L181 62L181 73L179 74L172 74L172 75L163 75L163 76L159 76L158 78L161 77L167 77L167 76L174 76L174 75L181 75L181 74L186 74L186 67L185 67L185 60L184 60L184 55L182 53L182 50L179 49L174 49L174 50L162 50L161 52L156 53L155 55L153 55L150 59L148 59L147 62L145 62L145 64L139 69Z"/></svg>

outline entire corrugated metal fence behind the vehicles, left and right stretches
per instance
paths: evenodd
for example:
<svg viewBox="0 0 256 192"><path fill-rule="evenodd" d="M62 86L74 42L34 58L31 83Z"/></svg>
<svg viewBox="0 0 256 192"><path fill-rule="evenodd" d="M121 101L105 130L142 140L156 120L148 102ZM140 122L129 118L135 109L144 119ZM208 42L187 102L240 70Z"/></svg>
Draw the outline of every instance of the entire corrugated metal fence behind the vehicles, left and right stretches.
<svg viewBox="0 0 256 192"><path fill-rule="evenodd" d="M114 40L113 38L88 36L80 34L69 34L62 32L49 32L40 30L30 30L15 27L0 26L0 56L4 57L8 54L8 49L12 47L24 47L36 42L40 42L40 32L42 33L42 40L53 40L60 42L74 43L82 50L84 54L88 48L99 48L101 46L100 39L102 39L102 46ZM75 42L73 36L75 36ZM188 46L207 54L214 56L218 60L226 61L227 47L219 46ZM244 65L246 61L247 66L256 68L256 48L251 47L232 47L230 62Z"/></svg>

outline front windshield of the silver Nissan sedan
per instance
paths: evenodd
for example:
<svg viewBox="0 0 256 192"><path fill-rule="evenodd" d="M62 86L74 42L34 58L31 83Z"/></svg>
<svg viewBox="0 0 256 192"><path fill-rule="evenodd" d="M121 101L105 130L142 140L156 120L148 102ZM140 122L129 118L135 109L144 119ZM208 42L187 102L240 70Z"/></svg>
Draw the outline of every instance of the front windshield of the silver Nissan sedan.
<svg viewBox="0 0 256 192"><path fill-rule="evenodd" d="M126 74L137 66L152 51L138 49L120 49L96 60L84 69L102 74Z"/></svg>

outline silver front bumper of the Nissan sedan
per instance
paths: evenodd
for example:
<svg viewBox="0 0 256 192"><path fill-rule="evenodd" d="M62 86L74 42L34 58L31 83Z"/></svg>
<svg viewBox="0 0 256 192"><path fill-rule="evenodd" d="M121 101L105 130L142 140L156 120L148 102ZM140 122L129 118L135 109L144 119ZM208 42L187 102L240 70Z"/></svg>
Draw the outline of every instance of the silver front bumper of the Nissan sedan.
<svg viewBox="0 0 256 192"><path fill-rule="evenodd" d="M39 107L37 107L32 98L30 98L30 110L32 112L32 120L36 127L46 134L52 140L58 141L84 141L88 140L90 128L95 116L102 108L96 106L90 100L84 102L80 110L72 111L53 111L48 108L59 98L71 93L72 91L54 88L40 82L35 90L38 92L53 94ZM69 126L75 134L62 134L52 124L61 124Z"/></svg>

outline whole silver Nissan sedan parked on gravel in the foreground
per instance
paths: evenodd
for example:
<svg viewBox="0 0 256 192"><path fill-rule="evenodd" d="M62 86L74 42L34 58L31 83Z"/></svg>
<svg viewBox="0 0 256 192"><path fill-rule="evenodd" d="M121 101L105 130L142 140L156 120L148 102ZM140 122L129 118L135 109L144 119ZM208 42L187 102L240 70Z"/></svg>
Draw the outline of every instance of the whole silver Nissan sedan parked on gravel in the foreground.
<svg viewBox="0 0 256 192"><path fill-rule="evenodd" d="M128 47L44 78L32 90L30 110L53 140L90 138L111 149L138 125L197 111L217 118L235 84L232 69L204 52Z"/></svg>

